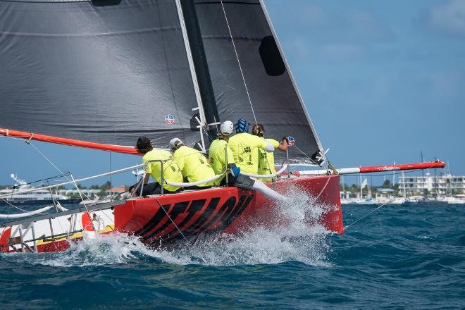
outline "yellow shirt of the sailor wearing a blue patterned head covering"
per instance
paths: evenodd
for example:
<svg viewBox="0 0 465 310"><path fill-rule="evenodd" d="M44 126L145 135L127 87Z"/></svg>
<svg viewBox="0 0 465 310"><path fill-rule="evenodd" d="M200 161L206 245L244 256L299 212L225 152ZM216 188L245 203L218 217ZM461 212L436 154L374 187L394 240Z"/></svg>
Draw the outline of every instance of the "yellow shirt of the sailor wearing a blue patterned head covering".
<svg viewBox="0 0 465 310"><path fill-rule="evenodd" d="M259 173L259 149L264 149L267 142L261 137L241 132L229 138L229 147L233 150L234 161L245 173Z"/></svg>

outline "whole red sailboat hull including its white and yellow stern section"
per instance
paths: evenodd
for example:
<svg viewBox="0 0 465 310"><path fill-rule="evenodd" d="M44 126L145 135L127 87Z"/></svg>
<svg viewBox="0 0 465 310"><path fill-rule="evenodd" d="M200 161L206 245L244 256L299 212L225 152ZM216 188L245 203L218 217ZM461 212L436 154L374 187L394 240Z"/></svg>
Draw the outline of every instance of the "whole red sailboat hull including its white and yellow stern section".
<svg viewBox="0 0 465 310"><path fill-rule="evenodd" d="M287 197L305 193L311 197L307 202L309 206L306 206L309 213L306 223L311 226L319 222L328 230L344 233L338 175L299 177L268 185ZM142 197L128 199L124 204L114 206L114 222L105 223L105 229L96 232L127 233L140 237L140 240L149 246L158 247L160 244L169 244L205 233L240 234L256 226L271 228L287 225L288 220L280 216L280 208L286 207L288 206L279 206L277 202L263 197L258 192L240 190L237 187ZM310 216L314 215L312 208L323 210L318 218ZM79 242L85 235L84 230L91 228L90 216L94 216L94 212L98 213L76 213L77 228L81 229L76 228L73 235L66 231L57 234L56 230L55 233L48 234L50 220L43 220L44 223L34 222L37 235L42 236L37 238L35 243L27 244L27 237L11 236L15 226L4 228L0 235L0 252L56 252L68 249L70 242ZM109 218L109 214L111 215L111 209L106 209L106 212L106 216L102 218ZM84 221L86 218L87 221ZM53 221L56 220L58 216ZM24 223L21 225L25 227ZM39 231L41 233L38 233Z"/></svg>

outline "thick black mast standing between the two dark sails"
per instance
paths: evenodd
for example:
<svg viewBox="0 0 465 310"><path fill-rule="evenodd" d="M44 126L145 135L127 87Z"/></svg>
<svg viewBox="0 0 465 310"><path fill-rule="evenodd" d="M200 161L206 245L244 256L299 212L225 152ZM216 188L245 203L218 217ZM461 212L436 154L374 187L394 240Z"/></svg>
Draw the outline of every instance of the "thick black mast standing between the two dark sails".
<svg viewBox="0 0 465 310"><path fill-rule="evenodd" d="M197 12L195 11L193 0L177 0L177 2L180 3L182 9L192 60L194 61L194 69L197 74L200 97L202 98L202 106L204 106L206 125L209 125L206 132L212 140L218 133L218 122L220 118L218 116L218 109L216 108L213 86L211 85L209 66L206 62L202 33L200 32L199 20L197 20Z"/></svg>

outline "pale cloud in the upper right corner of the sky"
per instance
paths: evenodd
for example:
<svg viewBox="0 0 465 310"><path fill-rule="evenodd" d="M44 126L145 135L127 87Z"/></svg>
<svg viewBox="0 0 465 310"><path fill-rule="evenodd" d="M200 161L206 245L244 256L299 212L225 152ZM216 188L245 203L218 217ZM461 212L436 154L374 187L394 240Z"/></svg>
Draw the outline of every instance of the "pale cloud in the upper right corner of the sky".
<svg viewBox="0 0 465 310"><path fill-rule="evenodd" d="M465 1L451 0L442 6L430 8L428 23L431 27L465 35Z"/></svg>

